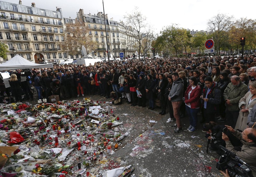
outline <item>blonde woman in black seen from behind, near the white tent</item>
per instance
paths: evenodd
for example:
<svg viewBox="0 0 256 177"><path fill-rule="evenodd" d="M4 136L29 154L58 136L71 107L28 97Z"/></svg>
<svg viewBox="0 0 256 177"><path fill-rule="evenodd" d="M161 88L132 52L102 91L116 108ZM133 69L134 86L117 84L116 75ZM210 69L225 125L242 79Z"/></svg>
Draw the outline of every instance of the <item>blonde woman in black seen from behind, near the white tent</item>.
<svg viewBox="0 0 256 177"><path fill-rule="evenodd" d="M21 83L18 81L16 74L11 75L11 79L9 80L10 86L11 86L11 91L12 95L15 97L15 101L22 101L21 98Z"/></svg>

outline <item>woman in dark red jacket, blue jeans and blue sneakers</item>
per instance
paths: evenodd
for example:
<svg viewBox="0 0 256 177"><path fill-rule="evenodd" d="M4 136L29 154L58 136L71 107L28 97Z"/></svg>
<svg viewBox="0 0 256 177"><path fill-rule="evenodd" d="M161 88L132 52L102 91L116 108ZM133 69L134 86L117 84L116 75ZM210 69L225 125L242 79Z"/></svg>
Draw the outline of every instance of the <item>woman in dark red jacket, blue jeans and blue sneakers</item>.
<svg viewBox="0 0 256 177"><path fill-rule="evenodd" d="M200 92L201 88L197 85L196 77L192 76L189 78L189 86L185 92L185 104L186 111L189 116L190 126L188 127L189 132L194 132L197 125L197 113L200 110Z"/></svg>

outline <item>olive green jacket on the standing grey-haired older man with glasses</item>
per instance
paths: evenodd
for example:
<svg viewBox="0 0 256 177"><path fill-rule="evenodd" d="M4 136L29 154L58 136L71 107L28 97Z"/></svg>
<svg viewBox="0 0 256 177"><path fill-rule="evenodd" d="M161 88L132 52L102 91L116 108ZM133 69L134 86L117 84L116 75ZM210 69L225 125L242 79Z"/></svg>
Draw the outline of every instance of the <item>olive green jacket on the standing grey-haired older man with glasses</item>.
<svg viewBox="0 0 256 177"><path fill-rule="evenodd" d="M226 104L226 108L228 111L238 111L239 109L239 101L243 96L248 92L248 87L246 84L240 82L238 85L233 85L231 82L227 85L224 90L224 100L230 100L231 105Z"/></svg>

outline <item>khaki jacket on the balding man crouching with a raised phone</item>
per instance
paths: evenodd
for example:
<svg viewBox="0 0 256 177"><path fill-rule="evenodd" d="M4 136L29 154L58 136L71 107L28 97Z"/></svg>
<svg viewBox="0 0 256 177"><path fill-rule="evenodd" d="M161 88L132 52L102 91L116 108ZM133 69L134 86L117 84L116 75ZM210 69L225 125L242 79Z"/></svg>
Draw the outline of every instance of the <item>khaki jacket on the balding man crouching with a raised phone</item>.
<svg viewBox="0 0 256 177"><path fill-rule="evenodd" d="M248 165L256 167L256 145L252 142L244 141L242 139L242 133L237 130L232 134L243 143L243 146L241 147L242 150L236 151L230 141L226 141L226 148L235 153L236 156L240 157ZM252 170L253 176L256 176L255 168L250 169Z"/></svg>

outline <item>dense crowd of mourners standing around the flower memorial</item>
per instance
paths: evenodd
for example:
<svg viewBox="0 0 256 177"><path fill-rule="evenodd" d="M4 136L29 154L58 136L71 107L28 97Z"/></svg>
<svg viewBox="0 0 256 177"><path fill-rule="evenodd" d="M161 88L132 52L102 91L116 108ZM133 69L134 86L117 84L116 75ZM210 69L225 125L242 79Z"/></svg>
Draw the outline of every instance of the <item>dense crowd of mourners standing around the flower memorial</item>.
<svg viewBox="0 0 256 177"><path fill-rule="evenodd" d="M130 106L151 110L160 102L159 114L165 115L168 108L170 118L166 122L175 121L171 126L175 133L184 129L181 118L186 113L188 132L194 132L198 122L205 123L203 131L209 134L212 150L218 152L218 145L226 144L248 164L256 166L254 54L243 58L215 56L215 61L189 57L121 60L90 66L55 65L53 69L33 69L31 73L38 99L52 94L60 99L99 94L112 97L116 104L126 100ZM16 79L11 75L10 83ZM10 85L19 86L16 82ZM202 119L198 120L200 114ZM225 122L229 133L223 133L225 126L217 122ZM252 171L256 176L256 170Z"/></svg>

